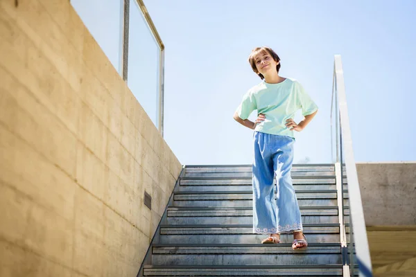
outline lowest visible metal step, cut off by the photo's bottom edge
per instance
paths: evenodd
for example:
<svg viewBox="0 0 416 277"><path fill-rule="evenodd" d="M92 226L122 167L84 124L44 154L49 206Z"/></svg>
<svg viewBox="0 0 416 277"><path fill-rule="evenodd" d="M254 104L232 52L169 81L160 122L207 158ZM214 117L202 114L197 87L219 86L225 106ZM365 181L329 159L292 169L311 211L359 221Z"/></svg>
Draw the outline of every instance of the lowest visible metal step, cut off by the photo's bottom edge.
<svg viewBox="0 0 416 277"><path fill-rule="evenodd" d="M145 265L144 276L343 276L338 265Z"/></svg>

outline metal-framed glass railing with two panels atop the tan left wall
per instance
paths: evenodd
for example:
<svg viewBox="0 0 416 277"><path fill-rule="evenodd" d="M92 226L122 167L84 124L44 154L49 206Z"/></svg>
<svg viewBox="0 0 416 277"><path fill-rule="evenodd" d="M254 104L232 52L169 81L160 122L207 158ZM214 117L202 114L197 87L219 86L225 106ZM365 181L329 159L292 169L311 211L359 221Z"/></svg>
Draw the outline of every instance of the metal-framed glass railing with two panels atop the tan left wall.
<svg viewBox="0 0 416 277"><path fill-rule="evenodd" d="M71 4L163 136L164 44L143 0Z"/></svg>

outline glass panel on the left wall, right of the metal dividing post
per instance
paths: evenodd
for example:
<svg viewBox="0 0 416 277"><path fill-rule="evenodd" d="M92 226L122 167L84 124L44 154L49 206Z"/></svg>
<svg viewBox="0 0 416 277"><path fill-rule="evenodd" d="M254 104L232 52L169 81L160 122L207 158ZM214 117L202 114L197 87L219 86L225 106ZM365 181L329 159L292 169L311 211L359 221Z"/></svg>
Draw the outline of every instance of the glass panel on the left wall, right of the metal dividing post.
<svg viewBox="0 0 416 277"><path fill-rule="evenodd" d="M159 128L160 48L136 0L130 0L127 84Z"/></svg>

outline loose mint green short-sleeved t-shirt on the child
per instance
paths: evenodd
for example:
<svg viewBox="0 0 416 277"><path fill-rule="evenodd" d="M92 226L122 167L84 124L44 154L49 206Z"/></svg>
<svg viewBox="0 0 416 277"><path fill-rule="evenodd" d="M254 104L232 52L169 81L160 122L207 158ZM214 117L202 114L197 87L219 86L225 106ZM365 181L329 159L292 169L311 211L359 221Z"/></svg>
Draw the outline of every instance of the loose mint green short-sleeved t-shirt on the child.
<svg viewBox="0 0 416 277"><path fill-rule="evenodd" d="M293 118L299 109L302 109L303 116L313 114L318 106L304 91L300 82L286 78L279 84L263 81L252 87L243 96L237 114L241 119L247 119L255 109L257 114L266 115L266 120L258 123L255 131L294 138L294 131L286 127L286 120Z"/></svg>

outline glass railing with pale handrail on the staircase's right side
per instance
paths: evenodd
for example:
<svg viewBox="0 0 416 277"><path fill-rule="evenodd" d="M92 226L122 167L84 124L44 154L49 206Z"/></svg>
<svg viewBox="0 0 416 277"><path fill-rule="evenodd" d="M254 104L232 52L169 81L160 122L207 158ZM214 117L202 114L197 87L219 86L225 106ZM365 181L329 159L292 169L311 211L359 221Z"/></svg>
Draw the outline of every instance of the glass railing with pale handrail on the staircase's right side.
<svg viewBox="0 0 416 277"><path fill-rule="evenodd" d="M358 271L358 276L370 277L372 276L370 250L367 241L356 163L352 149L343 64L340 55L335 55L333 67L331 153L333 163L335 163L338 190L343 276L356 276ZM347 185L345 185L346 183ZM348 197L346 197L347 193ZM346 205L345 199L348 199L348 205ZM345 215L349 215L347 223L345 222Z"/></svg>

